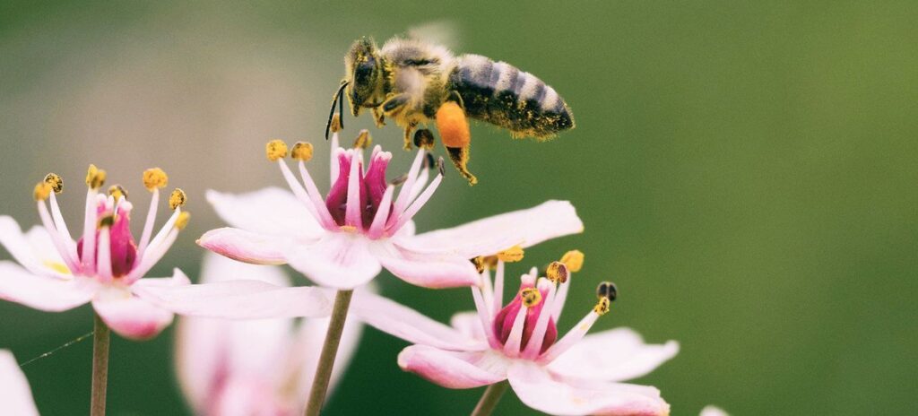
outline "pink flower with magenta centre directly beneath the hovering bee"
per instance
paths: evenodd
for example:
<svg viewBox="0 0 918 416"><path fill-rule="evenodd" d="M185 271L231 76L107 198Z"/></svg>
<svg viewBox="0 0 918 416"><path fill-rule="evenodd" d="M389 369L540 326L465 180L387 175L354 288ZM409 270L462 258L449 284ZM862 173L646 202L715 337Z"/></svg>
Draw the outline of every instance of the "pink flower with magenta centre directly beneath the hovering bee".
<svg viewBox="0 0 918 416"><path fill-rule="evenodd" d="M286 144L269 142L268 159L278 163L293 193L275 187L242 195L209 191L207 200L235 228L207 231L198 243L242 262L290 264L324 287L362 286L382 267L417 286L461 287L479 284L470 258L583 230L570 203L548 201L453 229L415 235L411 219L442 182L442 160L430 185L428 169L422 166L433 163L423 148L403 181L386 182L392 153L376 146L364 169L362 148L369 141L364 131L357 146L345 150L338 146L335 132L332 185L324 199L306 168L312 146L298 142L290 152L298 161L300 183L284 161Z"/></svg>

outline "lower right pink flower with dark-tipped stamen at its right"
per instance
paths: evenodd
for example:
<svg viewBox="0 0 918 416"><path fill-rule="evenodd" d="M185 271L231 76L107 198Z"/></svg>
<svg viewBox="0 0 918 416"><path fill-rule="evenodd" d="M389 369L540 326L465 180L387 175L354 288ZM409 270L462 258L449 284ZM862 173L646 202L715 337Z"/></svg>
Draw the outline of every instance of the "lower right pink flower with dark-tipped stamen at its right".
<svg viewBox="0 0 918 416"><path fill-rule="evenodd" d="M609 311L614 285L599 285L599 302L564 337L561 316L570 274L582 253L565 254L547 277L535 268L502 306L504 261L482 259L483 287L472 287L477 312L453 316L452 328L386 298L362 293L353 311L364 322L415 345L398 354L398 365L445 388L476 388L509 380L523 403L551 414L665 415L669 405L656 388L623 384L672 358L674 341L645 344L633 330L620 328L587 335ZM496 269L493 285L490 268Z"/></svg>

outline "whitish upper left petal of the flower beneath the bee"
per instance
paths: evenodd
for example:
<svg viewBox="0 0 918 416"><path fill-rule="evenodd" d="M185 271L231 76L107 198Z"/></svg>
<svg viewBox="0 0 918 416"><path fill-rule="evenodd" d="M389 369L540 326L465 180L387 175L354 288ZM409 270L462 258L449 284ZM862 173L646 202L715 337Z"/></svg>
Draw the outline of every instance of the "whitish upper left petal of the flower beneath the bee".
<svg viewBox="0 0 918 416"><path fill-rule="evenodd" d="M208 190L207 201L221 219L242 230L307 238L323 230L303 202L278 187L236 195Z"/></svg>

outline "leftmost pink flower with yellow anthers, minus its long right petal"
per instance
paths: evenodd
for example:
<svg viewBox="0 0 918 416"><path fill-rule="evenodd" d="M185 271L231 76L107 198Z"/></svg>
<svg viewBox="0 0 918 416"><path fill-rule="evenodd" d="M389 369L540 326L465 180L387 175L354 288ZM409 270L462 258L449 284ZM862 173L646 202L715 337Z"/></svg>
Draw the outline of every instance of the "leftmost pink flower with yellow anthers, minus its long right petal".
<svg viewBox="0 0 918 416"><path fill-rule="evenodd" d="M0 262L0 298L54 312L92 301L95 312L113 331L131 339L151 338L172 322L173 313L140 298L135 289L188 283L178 269L171 278L141 279L185 228L189 218L182 210L185 192L173 191L169 197L173 215L153 235L159 190L168 178L158 168L144 172L144 186L152 199L138 244L130 232L134 207L127 191L116 185L108 188L107 195L100 193L105 180L106 171L91 164L86 174L84 232L78 241L73 241L57 203L56 194L63 190L63 179L57 174L48 174L35 186L43 227L23 233L16 220L0 217L0 243L18 262Z"/></svg>

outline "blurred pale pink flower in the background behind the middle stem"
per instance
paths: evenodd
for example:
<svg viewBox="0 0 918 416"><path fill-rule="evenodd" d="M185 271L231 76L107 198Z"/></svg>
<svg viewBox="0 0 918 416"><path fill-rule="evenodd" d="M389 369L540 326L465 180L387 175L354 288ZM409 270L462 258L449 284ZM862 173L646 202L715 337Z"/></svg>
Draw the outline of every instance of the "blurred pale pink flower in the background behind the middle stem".
<svg viewBox="0 0 918 416"><path fill-rule="evenodd" d="M201 273L207 283L242 277L289 285L279 267L242 264L217 254L205 257ZM196 414L302 414L328 321L179 320L175 364L185 398ZM344 326L333 377L345 369L360 332L357 321Z"/></svg>

